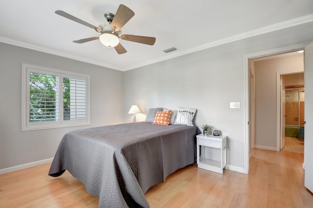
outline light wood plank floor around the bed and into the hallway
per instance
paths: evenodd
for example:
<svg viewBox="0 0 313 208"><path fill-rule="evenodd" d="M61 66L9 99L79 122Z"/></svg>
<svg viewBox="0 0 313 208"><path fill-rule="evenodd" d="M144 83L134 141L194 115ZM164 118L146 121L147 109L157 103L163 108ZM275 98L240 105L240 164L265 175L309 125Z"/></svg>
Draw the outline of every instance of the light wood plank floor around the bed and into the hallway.
<svg viewBox="0 0 313 208"><path fill-rule="evenodd" d="M250 173L179 169L151 187L151 208L313 208L304 187L303 154L252 149ZM67 171L47 175L50 164L0 175L0 208L96 208L99 198Z"/></svg>

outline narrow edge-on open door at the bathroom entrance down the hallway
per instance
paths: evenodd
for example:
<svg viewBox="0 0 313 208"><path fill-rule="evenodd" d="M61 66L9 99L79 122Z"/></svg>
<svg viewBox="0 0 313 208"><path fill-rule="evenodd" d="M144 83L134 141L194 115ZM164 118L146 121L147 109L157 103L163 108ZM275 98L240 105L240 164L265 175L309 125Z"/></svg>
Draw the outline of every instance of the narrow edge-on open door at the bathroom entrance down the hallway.
<svg viewBox="0 0 313 208"><path fill-rule="evenodd" d="M280 150L285 146L285 132L286 132L286 92L285 92L285 79L280 75Z"/></svg>

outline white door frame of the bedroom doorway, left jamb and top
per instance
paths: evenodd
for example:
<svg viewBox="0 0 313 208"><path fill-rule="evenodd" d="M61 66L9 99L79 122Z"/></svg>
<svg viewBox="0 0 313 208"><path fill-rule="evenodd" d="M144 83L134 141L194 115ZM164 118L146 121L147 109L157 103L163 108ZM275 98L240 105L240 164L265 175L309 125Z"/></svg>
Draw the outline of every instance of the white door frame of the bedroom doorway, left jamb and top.
<svg viewBox="0 0 313 208"><path fill-rule="evenodd" d="M292 51L297 51L299 49L303 49L308 43L302 43L297 45L291 45L283 48L275 48L267 51L260 51L256 53L246 54L244 55L244 100L245 100L245 112L244 112L244 173L249 172L249 59L259 58L263 56L275 55L280 53L287 53ZM280 113L280 110L279 110ZM278 128L279 129L279 128ZM279 141L278 141L279 142ZM277 145L276 145L277 146ZM279 143L278 143L279 148Z"/></svg>

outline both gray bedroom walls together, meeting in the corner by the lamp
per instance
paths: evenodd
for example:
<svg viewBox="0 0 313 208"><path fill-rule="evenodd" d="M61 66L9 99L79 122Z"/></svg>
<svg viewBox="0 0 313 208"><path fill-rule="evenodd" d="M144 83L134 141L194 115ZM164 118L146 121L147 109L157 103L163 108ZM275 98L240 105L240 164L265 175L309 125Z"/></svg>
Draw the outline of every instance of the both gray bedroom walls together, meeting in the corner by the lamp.
<svg viewBox="0 0 313 208"><path fill-rule="evenodd" d="M222 130L228 136L228 164L243 168L244 55L312 42L312 34L309 22L126 72L0 43L0 169L53 157L70 130L132 122L127 113L133 104L143 115L149 107L197 108L196 125ZM89 74L91 125L22 132L22 63ZM240 102L241 108L229 109L229 102Z"/></svg>

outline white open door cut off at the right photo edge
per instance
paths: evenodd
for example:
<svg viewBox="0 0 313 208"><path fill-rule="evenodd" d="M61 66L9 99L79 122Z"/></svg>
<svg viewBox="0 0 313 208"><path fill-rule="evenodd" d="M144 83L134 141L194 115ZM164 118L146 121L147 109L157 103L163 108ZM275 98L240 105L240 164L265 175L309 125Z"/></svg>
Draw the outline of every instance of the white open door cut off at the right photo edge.
<svg viewBox="0 0 313 208"><path fill-rule="evenodd" d="M304 87L304 186L313 192L313 42L305 47Z"/></svg>

